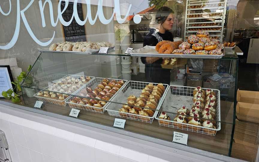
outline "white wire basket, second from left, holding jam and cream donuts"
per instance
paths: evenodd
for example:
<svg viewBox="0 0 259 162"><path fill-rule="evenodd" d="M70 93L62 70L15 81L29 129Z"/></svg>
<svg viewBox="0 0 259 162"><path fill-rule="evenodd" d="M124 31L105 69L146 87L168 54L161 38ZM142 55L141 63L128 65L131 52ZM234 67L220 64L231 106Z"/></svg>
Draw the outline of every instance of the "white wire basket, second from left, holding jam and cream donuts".
<svg viewBox="0 0 259 162"><path fill-rule="evenodd" d="M96 88L98 84L100 84L101 82L103 82L103 79L108 79L109 81L111 80L116 80L119 81L119 79L109 79L109 78L94 78L92 79L90 82L88 82L87 84L85 84L83 87L81 87L79 90L77 90L73 95L75 96L79 96L80 91L82 91L82 89L85 89L86 87L91 87L92 89ZM124 81L124 85L120 88L120 90L126 85L127 80L123 80ZM120 91L119 90L119 91ZM112 100L117 94L117 91L110 100ZM73 98L74 96L70 96L67 98L67 100L65 101L66 104L69 105L70 108L76 108L79 110L85 110L85 111L92 111L92 112L98 112L98 113L104 113L105 108L109 105L109 103L107 102L106 105L104 105L102 108L99 107L95 107L95 106L86 106L83 104L79 104L79 103L70 103L70 100ZM79 96L79 97L83 97L83 96Z"/></svg>

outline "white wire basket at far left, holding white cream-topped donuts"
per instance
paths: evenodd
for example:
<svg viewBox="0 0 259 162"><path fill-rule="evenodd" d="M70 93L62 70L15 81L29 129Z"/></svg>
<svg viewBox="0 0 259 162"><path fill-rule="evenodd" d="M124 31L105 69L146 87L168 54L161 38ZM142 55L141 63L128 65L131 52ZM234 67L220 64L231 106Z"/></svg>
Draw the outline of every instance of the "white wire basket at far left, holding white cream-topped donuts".
<svg viewBox="0 0 259 162"><path fill-rule="evenodd" d="M52 75L51 75L52 76ZM70 76L70 77L74 77L74 78L80 78L82 75L64 75L64 74L58 74L58 75L53 75L53 77L55 77L55 78L49 78L48 77L48 80L49 80L49 82L51 82L51 81L53 81L53 80L55 80L55 82L57 82L57 81L59 81L59 80L62 80L63 78L65 78L65 77L67 77L67 76ZM88 77L88 76L84 76L84 77ZM93 80L94 79L94 77L91 77L91 76L89 76L90 78L91 78L91 80ZM90 80L90 81L91 81ZM90 82L89 81L89 82ZM55 82L53 82L51 85L53 85L53 84L55 84ZM87 84L87 83L86 83ZM51 85L49 85L49 86L51 86ZM47 86L46 88L43 88L43 91L44 90L47 90L48 88L49 88L49 86ZM82 86L84 86L84 85L82 85ZM79 88L80 89L80 88ZM77 90L76 90L77 91ZM72 92L71 94L73 94L73 93L76 93L76 91L74 91L74 92ZM37 92L37 93L39 93L39 92ZM55 100L55 99L51 99L51 98L47 98L47 97L41 97L41 96L37 96L37 93L36 94L34 94L33 96L34 97L36 97L37 98L37 100L39 100L39 101L43 101L43 102L48 102L48 103L52 103L52 104L54 104L54 105L60 105L60 106L67 106L67 103L65 102L66 100L67 100L67 98L69 98L69 97L67 97L67 98L65 98L64 100ZM55 93L57 93L57 92L55 92Z"/></svg>

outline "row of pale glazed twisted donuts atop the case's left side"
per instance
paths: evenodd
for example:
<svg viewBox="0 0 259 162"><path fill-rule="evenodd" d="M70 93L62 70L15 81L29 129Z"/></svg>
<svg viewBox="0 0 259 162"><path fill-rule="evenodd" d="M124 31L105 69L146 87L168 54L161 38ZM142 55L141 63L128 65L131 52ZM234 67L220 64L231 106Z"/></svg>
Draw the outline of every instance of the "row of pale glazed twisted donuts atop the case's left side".
<svg viewBox="0 0 259 162"><path fill-rule="evenodd" d="M110 42L60 42L53 43L49 51L77 51L85 52L88 49L100 50L101 47L113 47Z"/></svg>

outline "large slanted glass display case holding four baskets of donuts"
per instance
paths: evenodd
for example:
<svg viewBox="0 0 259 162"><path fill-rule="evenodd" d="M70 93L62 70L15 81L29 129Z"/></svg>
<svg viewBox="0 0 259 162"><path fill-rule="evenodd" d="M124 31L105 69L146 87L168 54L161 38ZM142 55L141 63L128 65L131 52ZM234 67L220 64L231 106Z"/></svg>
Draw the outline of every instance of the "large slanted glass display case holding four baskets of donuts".
<svg viewBox="0 0 259 162"><path fill-rule="evenodd" d="M190 147L231 155L237 55L225 51L221 59L169 59L174 64L162 69L169 71L171 82L160 83L148 82L147 70L139 72L141 57L113 49L107 54L40 51L29 72L34 84L26 86L31 77L25 78L22 96L31 108L43 101L42 112L69 116L75 108L81 110L78 121L111 127L122 118L126 131L167 141L174 131L182 132L189 135Z"/></svg>

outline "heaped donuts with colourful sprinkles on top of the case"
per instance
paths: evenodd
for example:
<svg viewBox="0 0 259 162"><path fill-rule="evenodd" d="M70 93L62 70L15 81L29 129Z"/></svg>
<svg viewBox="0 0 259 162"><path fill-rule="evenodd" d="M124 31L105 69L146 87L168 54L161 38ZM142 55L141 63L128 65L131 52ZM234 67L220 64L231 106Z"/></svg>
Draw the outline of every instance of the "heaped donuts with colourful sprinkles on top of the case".
<svg viewBox="0 0 259 162"><path fill-rule="evenodd" d="M172 54L221 55L223 49L224 45L217 39L210 39L208 32L198 31L188 36L187 42L180 44Z"/></svg>

